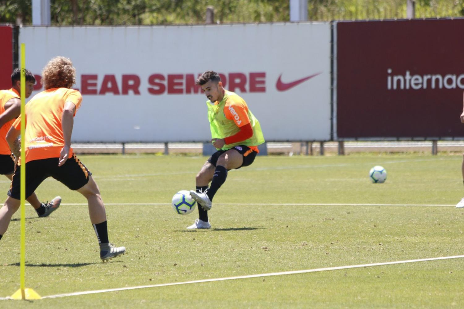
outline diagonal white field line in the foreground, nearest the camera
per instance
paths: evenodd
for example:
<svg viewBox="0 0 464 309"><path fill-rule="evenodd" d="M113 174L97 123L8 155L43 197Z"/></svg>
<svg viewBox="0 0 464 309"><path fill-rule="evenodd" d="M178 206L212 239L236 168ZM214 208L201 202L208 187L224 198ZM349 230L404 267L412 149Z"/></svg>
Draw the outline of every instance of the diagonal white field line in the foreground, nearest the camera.
<svg viewBox="0 0 464 309"><path fill-rule="evenodd" d="M192 281L174 282L174 283L164 283L164 284L139 285L139 286L132 286L132 287L124 287L124 288L106 289L106 290L90 290L90 291L82 291L82 292L64 293L64 294L42 296L42 299L67 297L67 296L78 296L78 295L96 294L96 293L106 293L106 292L123 291L123 290L146 289L146 288L155 288L155 287L160 287L160 286L170 286L170 285L180 285L180 284L193 284L193 283L226 281L226 280L235 280L235 279L248 279L248 278L257 278L257 277L283 276L283 275L303 274L303 273L308 273L308 272L335 271L335 270L340 270L340 269L373 267L373 266L395 265L395 264L416 263L416 262L435 261L435 260L443 260L443 259L461 259L461 258L464 258L464 255L439 257L439 258L429 258L429 259L412 259L412 260L384 262L384 263L372 263L372 264L325 267L325 268L307 269L307 270L300 270L300 271L271 272L271 273L246 275L246 276L222 277L222 278L214 278L214 279L201 279L201 280L192 280ZM1 299L7 299L7 298L1 298Z"/></svg>

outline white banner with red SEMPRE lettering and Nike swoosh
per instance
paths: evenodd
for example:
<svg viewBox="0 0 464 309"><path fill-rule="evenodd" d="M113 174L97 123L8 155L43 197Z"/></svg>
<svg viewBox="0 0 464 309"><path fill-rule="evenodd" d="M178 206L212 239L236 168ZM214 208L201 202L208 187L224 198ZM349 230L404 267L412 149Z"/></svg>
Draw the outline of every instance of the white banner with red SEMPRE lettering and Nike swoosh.
<svg viewBox="0 0 464 309"><path fill-rule="evenodd" d="M19 42L38 78L55 56L76 67L74 142L209 140L195 85L206 70L245 99L266 140L330 139L329 23L22 27Z"/></svg>

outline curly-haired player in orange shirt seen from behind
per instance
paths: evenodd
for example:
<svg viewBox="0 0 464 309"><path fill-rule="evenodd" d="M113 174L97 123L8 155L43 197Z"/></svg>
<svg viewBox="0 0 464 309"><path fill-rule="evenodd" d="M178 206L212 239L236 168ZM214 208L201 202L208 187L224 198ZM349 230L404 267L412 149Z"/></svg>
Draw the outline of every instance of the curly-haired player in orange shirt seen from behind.
<svg viewBox="0 0 464 309"><path fill-rule="evenodd" d="M81 94L70 89L76 82L76 69L70 59L55 57L43 69L42 82L45 90L26 104L26 134L23 137L26 158L20 158L6 202L0 208L0 239L19 208L20 169L26 164L26 196L51 176L87 198L90 222L100 244L100 259L108 261L124 254L126 248L109 243L105 207L97 183L72 153L74 116L82 101ZM18 118L6 134L6 141L16 157L20 155L17 139L20 126L21 119Z"/></svg>

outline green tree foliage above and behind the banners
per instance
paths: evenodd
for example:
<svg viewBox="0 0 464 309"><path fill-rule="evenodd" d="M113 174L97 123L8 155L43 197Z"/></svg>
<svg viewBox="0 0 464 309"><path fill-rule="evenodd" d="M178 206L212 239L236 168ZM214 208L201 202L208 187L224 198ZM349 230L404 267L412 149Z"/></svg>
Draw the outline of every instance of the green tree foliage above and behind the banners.
<svg viewBox="0 0 464 309"><path fill-rule="evenodd" d="M0 23L32 24L31 0L1 0ZM289 0L51 0L52 25L202 24L288 21ZM464 0L416 0L416 18L462 17ZM308 0L308 19L404 19L406 0Z"/></svg>

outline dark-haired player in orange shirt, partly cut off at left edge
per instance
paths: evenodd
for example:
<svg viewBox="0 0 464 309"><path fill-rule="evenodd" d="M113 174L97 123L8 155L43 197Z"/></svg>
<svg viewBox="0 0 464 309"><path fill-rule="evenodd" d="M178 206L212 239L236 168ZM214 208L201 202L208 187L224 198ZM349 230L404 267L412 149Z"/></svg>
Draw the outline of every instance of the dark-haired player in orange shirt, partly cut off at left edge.
<svg viewBox="0 0 464 309"><path fill-rule="evenodd" d="M26 98L32 94L35 77L29 70L26 70ZM13 125L15 118L21 114L21 72L14 69L11 75L12 88L0 90L0 174L12 180L14 172L14 157L11 155L10 147L6 143L6 133ZM57 196L51 202L41 203L34 192L27 198L39 217L48 217L53 211L58 209L61 197Z"/></svg>

